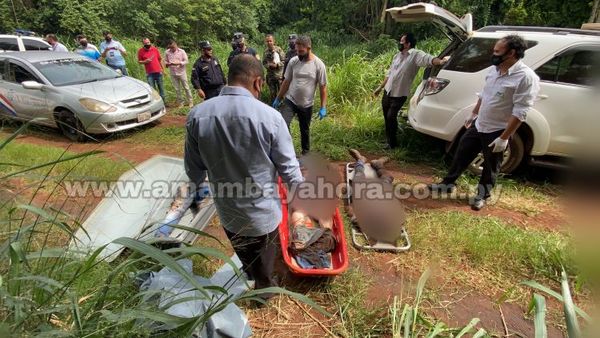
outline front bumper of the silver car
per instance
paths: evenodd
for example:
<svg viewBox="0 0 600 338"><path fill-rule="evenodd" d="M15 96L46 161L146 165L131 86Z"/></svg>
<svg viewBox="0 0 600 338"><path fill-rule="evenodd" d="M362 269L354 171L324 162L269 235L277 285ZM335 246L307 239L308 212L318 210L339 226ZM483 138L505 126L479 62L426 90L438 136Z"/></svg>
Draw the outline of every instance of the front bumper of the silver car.
<svg viewBox="0 0 600 338"><path fill-rule="evenodd" d="M86 132L91 134L113 133L143 126L156 121L166 114L165 105L162 100L154 101L148 105L138 108L118 107L114 113L91 113L78 114ZM139 120L140 114L150 113L146 120ZM147 115L147 114L146 114Z"/></svg>

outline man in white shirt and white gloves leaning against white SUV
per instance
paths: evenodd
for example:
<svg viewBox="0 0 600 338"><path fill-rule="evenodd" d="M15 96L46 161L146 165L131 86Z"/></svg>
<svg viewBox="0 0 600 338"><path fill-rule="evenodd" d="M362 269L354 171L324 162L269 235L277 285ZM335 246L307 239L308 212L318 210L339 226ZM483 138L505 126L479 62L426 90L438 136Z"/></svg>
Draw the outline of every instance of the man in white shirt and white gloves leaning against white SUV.
<svg viewBox="0 0 600 338"><path fill-rule="evenodd" d="M450 170L441 183L430 185L430 190L451 192L456 179L482 152L483 172L471 208L481 210L485 206L508 141L527 118L540 88L540 78L521 61L526 49L525 40L518 35L508 35L496 42L491 58L493 66L473 113L465 122L467 131L459 141Z"/></svg>

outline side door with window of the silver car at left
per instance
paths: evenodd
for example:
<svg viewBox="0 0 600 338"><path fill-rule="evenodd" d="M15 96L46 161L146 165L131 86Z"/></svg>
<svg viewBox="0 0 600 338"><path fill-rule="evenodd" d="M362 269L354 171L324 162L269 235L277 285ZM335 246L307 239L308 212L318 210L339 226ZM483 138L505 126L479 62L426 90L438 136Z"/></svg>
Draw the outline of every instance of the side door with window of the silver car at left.
<svg viewBox="0 0 600 338"><path fill-rule="evenodd" d="M12 108L11 115L19 119L30 120L36 117L47 118L49 109L46 104L46 93L42 90L23 88L24 81L42 82L24 63L14 59L6 59L5 75L0 85L0 98Z"/></svg>

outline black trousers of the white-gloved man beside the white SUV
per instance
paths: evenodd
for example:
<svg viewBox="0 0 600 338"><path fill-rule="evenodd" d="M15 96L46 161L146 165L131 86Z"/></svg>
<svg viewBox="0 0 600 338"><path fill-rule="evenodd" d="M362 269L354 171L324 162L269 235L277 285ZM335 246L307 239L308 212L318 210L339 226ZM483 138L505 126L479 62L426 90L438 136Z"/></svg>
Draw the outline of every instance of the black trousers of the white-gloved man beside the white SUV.
<svg viewBox="0 0 600 338"><path fill-rule="evenodd" d="M448 174L442 181L442 184L454 184L454 182L473 162L479 152L483 153L483 171L477 187L477 196L480 198L490 197L490 193L496 184L496 177L500 172L502 158L504 153L493 153L492 148L488 147L497 137L502 135L504 130L493 133L480 133L475 128L475 123L467 129L460 138L456 155L452 160L452 165Z"/></svg>

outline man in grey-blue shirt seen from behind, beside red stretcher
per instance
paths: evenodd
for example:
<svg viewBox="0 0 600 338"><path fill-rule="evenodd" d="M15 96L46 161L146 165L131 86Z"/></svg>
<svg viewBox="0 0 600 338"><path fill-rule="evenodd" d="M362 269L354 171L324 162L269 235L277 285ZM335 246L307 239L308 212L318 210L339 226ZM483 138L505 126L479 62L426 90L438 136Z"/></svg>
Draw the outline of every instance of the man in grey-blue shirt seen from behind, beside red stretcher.
<svg viewBox="0 0 600 338"><path fill-rule="evenodd" d="M257 99L263 81L260 61L236 56L220 96L191 110L184 155L196 187L208 174L221 224L256 288L276 286L278 176L288 184L303 181L284 119Z"/></svg>

